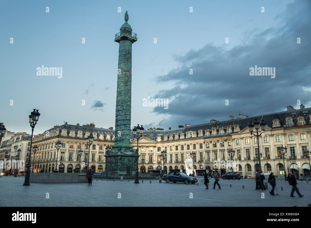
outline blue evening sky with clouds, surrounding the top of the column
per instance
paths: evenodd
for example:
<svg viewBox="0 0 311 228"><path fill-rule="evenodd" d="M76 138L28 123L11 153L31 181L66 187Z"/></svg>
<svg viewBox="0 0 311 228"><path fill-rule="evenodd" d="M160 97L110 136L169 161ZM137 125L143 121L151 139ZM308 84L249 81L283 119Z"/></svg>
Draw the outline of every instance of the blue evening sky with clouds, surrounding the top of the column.
<svg viewBox="0 0 311 228"><path fill-rule="evenodd" d="M41 114L34 134L64 122L115 127L114 38L125 11L137 34L132 126L224 121L299 109L297 100L311 106L308 0L0 1L0 122L7 130L31 133L34 108ZM62 77L38 76L42 65L62 67ZM275 77L251 76L255 65L272 67ZM167 109L146 107L148 96L167 99Z"/></svg>

